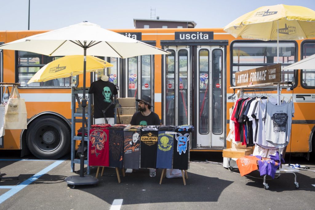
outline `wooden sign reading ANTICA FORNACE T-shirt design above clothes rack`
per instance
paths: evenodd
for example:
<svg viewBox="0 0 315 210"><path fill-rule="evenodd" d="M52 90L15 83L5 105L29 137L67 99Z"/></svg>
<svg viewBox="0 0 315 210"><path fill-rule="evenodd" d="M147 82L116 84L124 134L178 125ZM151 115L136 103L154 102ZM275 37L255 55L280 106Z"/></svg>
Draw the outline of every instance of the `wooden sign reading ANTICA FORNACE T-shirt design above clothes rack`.
<svg viewBox="0 0 315 210"><path fill-rule="evenodd" d="M281 64L273 64L256 69L238 71L235 73L235 86L255 85L280 81Z"/></svg>

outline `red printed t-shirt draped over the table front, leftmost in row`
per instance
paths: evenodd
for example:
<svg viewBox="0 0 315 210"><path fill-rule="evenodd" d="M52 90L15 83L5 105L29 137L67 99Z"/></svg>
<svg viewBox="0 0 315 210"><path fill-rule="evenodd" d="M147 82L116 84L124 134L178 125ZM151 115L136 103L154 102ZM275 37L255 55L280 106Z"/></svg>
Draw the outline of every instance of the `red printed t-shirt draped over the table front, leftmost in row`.
<svg viewBox="0 0 315 210"><path fill-rule="evenodd" d="M89 165L109 166L109 131L107 128L91 128L89 135Z"/></svg>

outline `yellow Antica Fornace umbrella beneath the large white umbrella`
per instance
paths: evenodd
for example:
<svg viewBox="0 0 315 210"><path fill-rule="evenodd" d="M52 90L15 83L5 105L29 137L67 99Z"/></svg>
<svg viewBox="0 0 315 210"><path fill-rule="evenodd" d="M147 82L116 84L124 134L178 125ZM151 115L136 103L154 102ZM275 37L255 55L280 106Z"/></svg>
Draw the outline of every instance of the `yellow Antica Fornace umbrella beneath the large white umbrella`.
<svg viewBox="0 0 315 210"><path fill-rule="evenodd" d="M27 84L30 84L31 82L46 82L52 79L82 74L82 60L83 55L68 55L54 60L38 70ZM86 72L93 72L112 66L112 64L105 60L90 55L86 56Z"/></svg>

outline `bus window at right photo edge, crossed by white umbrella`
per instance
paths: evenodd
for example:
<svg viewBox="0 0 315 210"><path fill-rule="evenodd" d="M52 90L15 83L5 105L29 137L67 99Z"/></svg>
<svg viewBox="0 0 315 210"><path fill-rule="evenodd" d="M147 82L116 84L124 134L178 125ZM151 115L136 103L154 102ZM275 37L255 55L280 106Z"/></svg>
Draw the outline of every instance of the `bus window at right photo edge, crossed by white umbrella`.
<svg viewBox="0 0 315 210"><path fill-rule="evenodd" d="M315 54L315 42L307 41L302 43L302 59ZM301 85L303 88L315 88L315 70L303 69L301 70Z"/></svg>

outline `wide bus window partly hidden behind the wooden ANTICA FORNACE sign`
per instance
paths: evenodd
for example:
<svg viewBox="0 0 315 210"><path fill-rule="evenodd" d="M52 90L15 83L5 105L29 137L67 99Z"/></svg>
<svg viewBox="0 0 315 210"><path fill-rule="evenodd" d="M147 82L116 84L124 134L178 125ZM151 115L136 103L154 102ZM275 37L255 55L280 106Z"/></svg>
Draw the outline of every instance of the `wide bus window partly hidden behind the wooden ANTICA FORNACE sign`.
<svg viewBox="0 0 315 210"><path fill-rule="evenodd" d="M234 42L231 47L231 84L235 86L235 72L254 69L277 63L277 43L276 42ZM279 43L279 62L282 68L295 63L296 43ZM283 70L281 81L295 82L294 71Z"/></svg>

